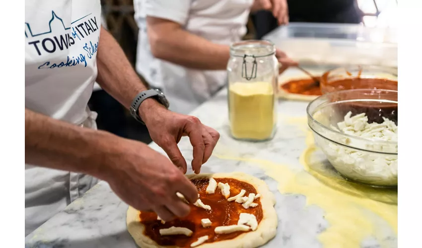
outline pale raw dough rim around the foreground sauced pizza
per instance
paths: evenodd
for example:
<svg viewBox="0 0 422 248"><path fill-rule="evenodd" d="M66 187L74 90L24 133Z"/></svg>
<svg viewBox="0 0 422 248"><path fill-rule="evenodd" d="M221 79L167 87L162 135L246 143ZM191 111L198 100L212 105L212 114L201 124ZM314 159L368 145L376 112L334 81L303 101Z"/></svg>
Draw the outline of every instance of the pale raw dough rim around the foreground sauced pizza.
<svg viewBox="0 0 422 248"><path fill-rule="evenodd" d="M261 206L263 218L259 223L258 229L243 233L231 240L218 241L215 243L204 243L197 248L257 248L266 244L276 236L278 218L274 208L276 198L270 191L267 184L255 177L244 173L216 173L216 174L191 174L186 175L188 179L199 178L232 178L246 182L255 187L257 193L261 194ZM217 190L215 191L217 193ZM140 222L139 211L129 206L126 215L126 224L129 233L135 240L135 243L141 248L179 248L176 246L159 246L155 241L143 234L144 226Z"/></svg>

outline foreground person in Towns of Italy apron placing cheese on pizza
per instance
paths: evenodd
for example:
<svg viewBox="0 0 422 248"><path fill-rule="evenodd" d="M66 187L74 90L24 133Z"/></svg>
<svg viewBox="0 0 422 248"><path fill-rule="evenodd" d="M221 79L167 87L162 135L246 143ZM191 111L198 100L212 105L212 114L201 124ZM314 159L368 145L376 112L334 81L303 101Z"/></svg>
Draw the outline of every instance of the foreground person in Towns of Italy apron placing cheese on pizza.
<svg viewBox="0 0 422 248"><path fill-rule="evenodd" d="M110 33L100 0L25 1L25 236L98 180L126 203L163 220L189 214L198 190L177 143L189 136L200 173L219 138L148 90ZM144 123L168 158L146 144L95 130L94 81Z"/></svg>

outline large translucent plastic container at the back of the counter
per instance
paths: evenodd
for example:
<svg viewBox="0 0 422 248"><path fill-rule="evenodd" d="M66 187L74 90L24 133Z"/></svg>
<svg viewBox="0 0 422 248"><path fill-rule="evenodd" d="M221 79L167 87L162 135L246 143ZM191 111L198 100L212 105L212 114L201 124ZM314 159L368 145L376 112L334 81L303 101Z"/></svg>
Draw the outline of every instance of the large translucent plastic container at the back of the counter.
<svg viewBox="0 0 422 248"><path fill-rule="evenodd" d="M290 23L263 39L304 64L397 67L397 30L360 24Z"/></svg>

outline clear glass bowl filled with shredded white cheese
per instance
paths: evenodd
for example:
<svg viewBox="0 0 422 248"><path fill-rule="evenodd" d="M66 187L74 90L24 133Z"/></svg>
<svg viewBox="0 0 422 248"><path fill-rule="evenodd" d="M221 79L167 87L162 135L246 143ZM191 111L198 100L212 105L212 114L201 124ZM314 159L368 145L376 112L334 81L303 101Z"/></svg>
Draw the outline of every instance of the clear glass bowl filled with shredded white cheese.
<svg viewBox="0 0 422 248"><path fill-rule="evenodd" d="M342 90L327 93L309 103L306 109L308 125L314 133L315 143L345 178L371 186L397 186L397 131L396 134L388 133L391 130L388 128L398 124L397 96L395 90ZM348 113L352 119L345 117ZM374 133L382 132L382 135L351 134L349 130L354 133L353 130L362 127L362 123L356 121L356 118L363 120L356 116L359 114L367 117L365 123L376 125ZM384 122L385 118L391 122ZM349 128L346 132L345 123ZM387 136L392 138L386 139Z"/></svg>

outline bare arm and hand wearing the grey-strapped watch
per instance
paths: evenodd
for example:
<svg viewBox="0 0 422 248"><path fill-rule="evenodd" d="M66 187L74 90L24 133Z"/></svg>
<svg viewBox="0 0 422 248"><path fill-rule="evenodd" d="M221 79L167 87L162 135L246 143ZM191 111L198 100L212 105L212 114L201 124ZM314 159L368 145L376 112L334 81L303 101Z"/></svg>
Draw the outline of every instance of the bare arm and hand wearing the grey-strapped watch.
<svg viewBox="0 0 422 248"><path fill-rule="evenodd" d="M132 68L123 50L105 29L101 30L97 52L97 82L126 108L145 85ZM224 65L225 66L225 65ZM181 135L188 135L194 147L192 167L199 173L203 163L211 156L219 134L203 125L197 118L168 111L156 100L148 98L139 107L152 140L166 151L170 159L186 173L186 160L177 143Z"/></svg>

